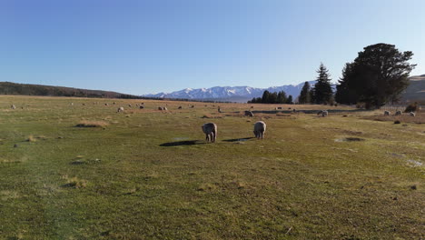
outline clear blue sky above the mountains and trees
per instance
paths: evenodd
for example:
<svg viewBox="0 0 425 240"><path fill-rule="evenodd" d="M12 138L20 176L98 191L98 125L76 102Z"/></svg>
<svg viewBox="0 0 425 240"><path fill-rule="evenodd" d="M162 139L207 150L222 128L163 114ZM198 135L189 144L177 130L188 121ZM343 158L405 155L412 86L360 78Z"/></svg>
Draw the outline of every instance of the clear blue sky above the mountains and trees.
<svg viewBox="0 0 425 240"><path fill-rule="evenodd" d="M366 45L412 51L424 0L2 0L0 81L134 95L334 82Z"/></svg>

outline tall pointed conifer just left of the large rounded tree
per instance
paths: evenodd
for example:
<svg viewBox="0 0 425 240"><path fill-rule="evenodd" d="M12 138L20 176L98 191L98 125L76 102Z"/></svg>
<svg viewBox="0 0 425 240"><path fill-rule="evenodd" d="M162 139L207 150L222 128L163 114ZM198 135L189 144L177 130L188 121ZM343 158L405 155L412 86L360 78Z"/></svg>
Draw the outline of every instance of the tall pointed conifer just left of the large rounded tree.
<svg viewBox="0 0 425 240"><path fill-rule="evenodd" d="M326 69L326 66L323 64L321 64L317 70L319 75L314 85L314 101L319 105L331 102L333 93L331 78L328 72L328 69Z"/></svg>

